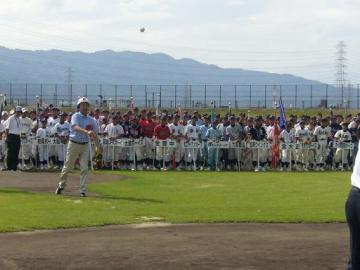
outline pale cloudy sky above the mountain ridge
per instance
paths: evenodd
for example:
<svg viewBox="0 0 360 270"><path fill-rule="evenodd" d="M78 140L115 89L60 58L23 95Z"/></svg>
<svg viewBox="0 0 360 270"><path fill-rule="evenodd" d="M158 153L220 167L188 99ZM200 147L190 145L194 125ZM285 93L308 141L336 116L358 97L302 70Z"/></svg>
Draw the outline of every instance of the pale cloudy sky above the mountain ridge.
<svg viewBox="0 0 360 270"><path fill-rule="evenodd" d="M0 46L161 52L334 83L344 41L347 83L360 83L359 14L359 0L1 0Z"/></svg>

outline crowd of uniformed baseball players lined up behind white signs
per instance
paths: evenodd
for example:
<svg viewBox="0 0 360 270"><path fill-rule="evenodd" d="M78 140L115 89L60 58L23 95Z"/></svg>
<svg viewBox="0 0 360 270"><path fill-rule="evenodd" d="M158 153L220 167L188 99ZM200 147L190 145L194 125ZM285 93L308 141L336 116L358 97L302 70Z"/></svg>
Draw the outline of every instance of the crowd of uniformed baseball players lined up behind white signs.
<svg viewBox="0 0 360 270"><path fill-rule="evenodd" d="M72 113L52 105L2 112L0 169L9 169L4 162L9 158L6 129L13 114L18 114L21 130L17 168L61 169ZM97 167L116 170L347 170L354 163L360 123L360 114L330 113L290 115L280 127L274 115L136 107L125 113L94 109L90 115L103 144Z"/></svg>

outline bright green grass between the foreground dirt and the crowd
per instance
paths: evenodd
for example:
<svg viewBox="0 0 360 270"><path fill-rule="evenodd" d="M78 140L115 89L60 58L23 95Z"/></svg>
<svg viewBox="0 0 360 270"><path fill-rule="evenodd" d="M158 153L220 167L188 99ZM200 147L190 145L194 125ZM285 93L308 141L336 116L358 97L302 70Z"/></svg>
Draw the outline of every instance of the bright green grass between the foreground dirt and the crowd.
<svg viewBox="0 0 360 270"><path fill-rule="evenodd" d="M350 187L350 172L117 173L129 178L90 184L100 197L0 189L0 231L149 221L344 222Z"/></svg>

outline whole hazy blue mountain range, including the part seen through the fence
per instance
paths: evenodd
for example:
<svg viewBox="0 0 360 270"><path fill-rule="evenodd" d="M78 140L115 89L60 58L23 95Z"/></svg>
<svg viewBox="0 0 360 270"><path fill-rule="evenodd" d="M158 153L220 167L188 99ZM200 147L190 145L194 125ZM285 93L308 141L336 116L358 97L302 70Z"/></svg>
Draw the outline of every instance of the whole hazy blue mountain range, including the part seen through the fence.
<svg viewBox="0 0 360 270"><path fill-rule="evenodd" d="M271 107L279 95L290 107L319 106L323 99L341 104L345 98L352 106L358 104L353 98L356 91L340 93L290 74L220 68L163 53L112 50L84 53L0 47L0 92L21 104L33 101L35 95L42 95L44 102L61 104L82 95L94 101L99 96L111 98L117 104L133 96L139 106L155 106L160 96L161 104L169 107L212 106L211 101L217 106L230 102L241 107Z"/></svg>

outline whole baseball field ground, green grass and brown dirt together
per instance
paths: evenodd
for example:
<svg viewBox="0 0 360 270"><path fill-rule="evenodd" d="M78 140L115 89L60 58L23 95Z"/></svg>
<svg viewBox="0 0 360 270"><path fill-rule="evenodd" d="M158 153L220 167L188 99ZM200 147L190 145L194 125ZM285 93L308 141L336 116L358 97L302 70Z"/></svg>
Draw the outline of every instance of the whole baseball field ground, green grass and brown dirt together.
<svg viewBox="0 0 360 270"><path fill-rule="evenodd" d="M343 269L350 172L1 172L0 269ZM64 258L66 258L64 260Z"/></svg>

